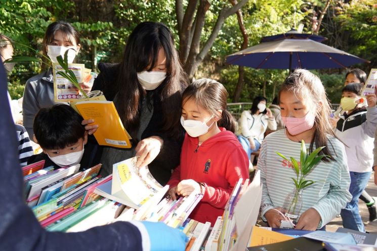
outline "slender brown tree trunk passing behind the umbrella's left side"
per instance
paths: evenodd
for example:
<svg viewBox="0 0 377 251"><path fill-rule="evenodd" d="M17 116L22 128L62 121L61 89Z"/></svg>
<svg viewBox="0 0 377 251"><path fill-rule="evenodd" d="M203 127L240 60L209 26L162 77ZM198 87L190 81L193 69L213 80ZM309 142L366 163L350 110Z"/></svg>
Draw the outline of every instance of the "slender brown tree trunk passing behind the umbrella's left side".
<svg viewBox="0 0 377 251"><path fill-rule="evenodd" d="M229 0L229 1L233 6L237 4L237 0ZM239 29L243 37L241 50L244 50L247 48L247 45L248 45L248 36L247 36L245 25L243 23L242 11L240 9L237 10L237 20L238 20ZM234 95L233 95L234 103L237 103L239 101L239 97L241 96L241 92L242 92L243 85L245 82L244 78L245 78L245 69L243 68L243 66L238 66L238 82L237 82L237 86L236 86L236 89L234 90Z"/></svg>

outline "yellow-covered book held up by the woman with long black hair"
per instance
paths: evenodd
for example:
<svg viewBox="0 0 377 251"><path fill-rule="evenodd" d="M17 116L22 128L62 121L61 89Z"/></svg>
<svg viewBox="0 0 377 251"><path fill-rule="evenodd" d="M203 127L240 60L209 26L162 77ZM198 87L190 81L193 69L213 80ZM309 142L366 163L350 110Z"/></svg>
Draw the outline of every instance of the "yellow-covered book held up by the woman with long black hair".
<svg viewBox="0 0 377 251"><path fill-rule="evenodd" d="M99 145L131 148L131 136L124 129L112 101L80 101L75 106L84 119L94 119L93 124L98 124L94 137Z"/></svg>

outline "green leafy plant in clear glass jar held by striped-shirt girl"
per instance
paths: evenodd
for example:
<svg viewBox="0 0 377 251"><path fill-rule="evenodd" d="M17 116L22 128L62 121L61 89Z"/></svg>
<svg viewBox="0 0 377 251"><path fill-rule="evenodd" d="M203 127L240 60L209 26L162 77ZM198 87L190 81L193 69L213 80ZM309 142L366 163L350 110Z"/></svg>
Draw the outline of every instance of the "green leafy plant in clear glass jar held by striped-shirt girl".
<svg viewBox="0 0 377 251"><path fill-rule="evenodd" d="M311 154L307 153L305 142L301 141L301 152L300 152L300 162L298 162L294 157L289 159L279 152L276 152L280 157L289 161L292 164L296 172L296 178L291 178L295 184L295 190L289 193L284 201L282 207L282 213L289 217L295 224L297 223L302 204L303 198L302 193L304 188L313 185L318 181L307 180L306 176L315 168L315 166L321 161L323 157L327 155L319 155L319 152L324 148L318 147Z"/></svg>

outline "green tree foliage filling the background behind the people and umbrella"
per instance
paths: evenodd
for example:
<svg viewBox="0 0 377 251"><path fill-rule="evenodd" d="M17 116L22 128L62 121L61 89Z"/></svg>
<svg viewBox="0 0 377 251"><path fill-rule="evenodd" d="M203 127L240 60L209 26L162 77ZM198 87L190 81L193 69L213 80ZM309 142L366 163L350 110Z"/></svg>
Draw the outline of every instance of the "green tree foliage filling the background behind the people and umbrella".
<svg viewBox="0 0 377 251"><path fill-rule="evenodd" d="M332 0L322 21L319 34L328 37L327 45L348 51L372 61L377 58L377 14L374 0ZM238 0L238 2L240 2ZM302 0L250 0L242 7L248 46L257 45L266 35L273 35L305 24L312 31L314 11L319 16L325 0L312 0L310 8L303 8ZM186 11L188 0L182 1ZM222 9L232 5L227 0L212 0L205 13L205 23L200 34L200 47L210 37ZM133 28L142 21L158 21L171 28L178 49L180 45L175 0L8 0L0 1L0 32L11 39L41 50L47 26L56 20L71 22L81 36L81 50L76 59L87 67L96 69L99 61L119 62L124 45ZM237 52L243 41L237 16L225 19L211 50L199 65L196 78L212 77L220 80L233 96L238 67L225 65L227 55ZM35 56L25 47L16 46L15 55ZM370 66L368 66L370 67ZM361 67L368 71L369 68ZM277 94L278 86L288 75L287 70L255 70L245 67L245 86L240 101L250 102L257 95L266 95L269 101ZM32 62L17 64L10 75L9 89L13 98L22 96L26 80L41 72L41 65ZM336 72L336 73L334 73ZM344 73L340 71L317 72L333 103L340 100ZM274 92L275 89L275 92Z"/></svg>

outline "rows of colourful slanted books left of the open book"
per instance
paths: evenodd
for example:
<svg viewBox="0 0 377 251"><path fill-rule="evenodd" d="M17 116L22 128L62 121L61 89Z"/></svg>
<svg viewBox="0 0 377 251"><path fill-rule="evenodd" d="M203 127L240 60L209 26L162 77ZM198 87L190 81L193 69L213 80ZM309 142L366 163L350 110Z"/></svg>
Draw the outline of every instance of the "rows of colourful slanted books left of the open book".
<svg viewBox="0 0 377 251"><path fill-rule="evenodd" d="M96 186L111 178L98 177L101 164L78 172L79 164L54 170L43 168L44 162L24 166L22 171L26 202L48 230L62 230L62 222L77 222L108 203L94 193Z"/></svg>

